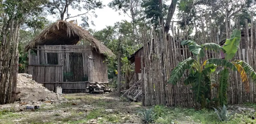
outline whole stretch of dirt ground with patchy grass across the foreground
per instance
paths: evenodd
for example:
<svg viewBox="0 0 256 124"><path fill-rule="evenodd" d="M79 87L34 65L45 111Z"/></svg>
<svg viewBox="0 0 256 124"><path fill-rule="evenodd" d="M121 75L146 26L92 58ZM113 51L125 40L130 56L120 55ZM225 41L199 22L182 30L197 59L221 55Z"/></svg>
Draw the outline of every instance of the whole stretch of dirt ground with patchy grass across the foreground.
<svg viewBox="0 0 256 124"><path fill-rule="evenodd" d="M39 109L26 109L20 103L0 105L0 124L143 124L139 115L146 109L140 102L131 102L116 93L63 94L61 102L43 101ZM46 103L48 102L48 103ZM30 104L31 105L31 104ZM214 110L168 107L154 108L157 119L152 124L251 124L256 123L256 104L229 105L229 110L237 111L234 118L221 122ZM2 108L2 109L1 109Z"/></svg>

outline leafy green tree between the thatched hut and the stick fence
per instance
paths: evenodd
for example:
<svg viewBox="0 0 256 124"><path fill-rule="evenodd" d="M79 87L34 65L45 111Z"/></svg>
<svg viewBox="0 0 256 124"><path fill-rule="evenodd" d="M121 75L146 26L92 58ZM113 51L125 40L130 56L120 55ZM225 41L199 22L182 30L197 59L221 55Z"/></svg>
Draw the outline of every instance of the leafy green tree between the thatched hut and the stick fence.
<svg viewBox="0 0 256 124"><path fill-rule="evenodd" d="M117 57L120 54L120 64L117 63L117 58L107 58L108 62L108 76L113 78L115 71L120 71L118 73L124 74L126 77L125 88L129 87L129 82L132 80L133 76L133 66L130 65L127 56L130 56L138 48L141 47L139 44L133 43L133 26L127 21L116 22L114 26L107 26L101 31L92 31L94 37L100 40L104 45L110 48ZM122 36L121 40L119 37ZM120 43L122 41L122 43ZM121 67L120 67L121 66Z"/></svg>

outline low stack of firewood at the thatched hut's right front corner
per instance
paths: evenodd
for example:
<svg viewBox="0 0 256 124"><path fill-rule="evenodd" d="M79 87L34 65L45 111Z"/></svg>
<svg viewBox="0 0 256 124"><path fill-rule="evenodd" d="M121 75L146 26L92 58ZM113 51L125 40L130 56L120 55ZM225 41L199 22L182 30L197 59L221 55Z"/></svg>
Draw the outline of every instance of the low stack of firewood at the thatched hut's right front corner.
<svg viewBox="0 0 256 124"><path fill-rule="evenodd" d="M109 93L109 92L112 92L111 89L108 88L106 85L100 84L98 82L95 82L95 83L89 85L89 87L87 87L87 89L89 89L89 93Z"/></svg>

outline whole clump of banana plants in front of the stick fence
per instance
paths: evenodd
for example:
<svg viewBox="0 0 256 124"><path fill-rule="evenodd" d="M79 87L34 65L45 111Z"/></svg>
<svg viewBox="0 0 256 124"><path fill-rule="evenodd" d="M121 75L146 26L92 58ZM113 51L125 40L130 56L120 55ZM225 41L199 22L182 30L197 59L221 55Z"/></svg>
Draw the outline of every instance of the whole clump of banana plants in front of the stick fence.
<svg viewBox="0 0 256 124"><path fill-rule="evenodd" d="M233 71L238 71L242 78L242 82L245 84L245 89L249 92L249 79L248 76L256 82L256 73L252 67L242 60L235 60L230 62L235 53L238 50L239 41L241 38L241 31L234 30L231 38L226 39L225 45L221 47L216 43L205 43L198 45L192 40L184 40L181 42L181 45L189 45L189 50L195 56L195 59L188 58L178 64L171 72L171 77L168 80L168 83L176 85L178 80L183 76L183 73L186 69L189 69L189 76L184 80L185 85L191 84L195 100L201 104L202 107L206 104L206 99L209 99L210 93L210 74L215 72L217 66L224 67L220 71L221 78L219 80L218 86L218 95L217 103L226 104L227 103L227 87L228 87L228 78L229 78L229 69ZM205 50L222 50L225 53L225 59L220 58L210 58L205 60L204 63L200 63L200 59L205 56L203 51Z"/></svg>

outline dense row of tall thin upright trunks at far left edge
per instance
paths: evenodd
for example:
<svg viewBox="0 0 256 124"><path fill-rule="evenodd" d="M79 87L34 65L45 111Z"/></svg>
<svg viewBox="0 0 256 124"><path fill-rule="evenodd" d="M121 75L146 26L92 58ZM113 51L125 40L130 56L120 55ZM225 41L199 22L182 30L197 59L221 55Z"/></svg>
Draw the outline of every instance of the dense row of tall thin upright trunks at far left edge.
<svg viewBox="0 0 256 124"><path fill-rule="evenodd" d="M18 76L19 21L10 19L5 23L0 51L0 104L15 101Z"/></svg>

